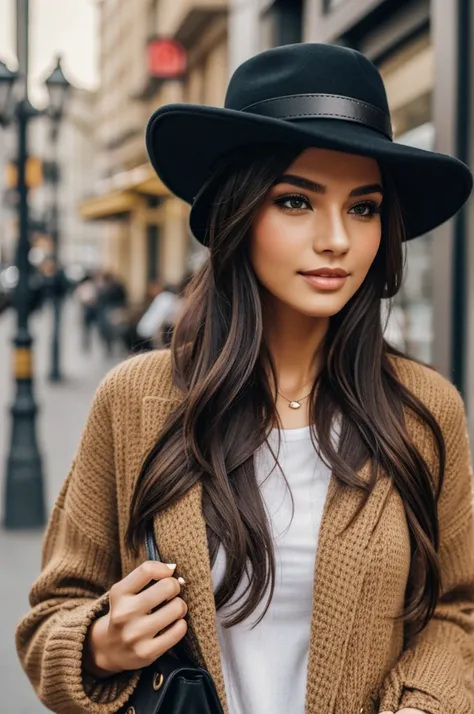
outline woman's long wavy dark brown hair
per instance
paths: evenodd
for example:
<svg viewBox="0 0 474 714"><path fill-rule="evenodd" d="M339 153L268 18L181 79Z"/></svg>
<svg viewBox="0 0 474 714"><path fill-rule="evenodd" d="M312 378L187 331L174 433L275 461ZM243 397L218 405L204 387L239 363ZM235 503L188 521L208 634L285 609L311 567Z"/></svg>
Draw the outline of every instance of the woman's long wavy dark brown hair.
<svg viewBox="0 0 474 714"><path fill-rule="evenodd" d="M209 256L188 286L189 309L183 310L171 346L173 378L184 398L157 435L131 503L128 543L137 548L149 518L201 480L211 563L219 545L227 555L216 607L237 605L237 586L252 572L245 597L226 620L229 627L254 612L266 595L268 607L275 575L252 457L279 423L269 380L273 375L275 384L276 375L264 339L262 289L249 260L249 231L275 179L300 151L280 146L240 152L224 161L209 183L215 188ZM311 422L318 449L340 482L363 489L367 499L381 469L403 499L412 572L402 616L417 631L432 616L439 595L437 499L445 446L434 416L397 379L390 357L401 354L383 337L381 299L399 290L404 263L402 214L389 174L384 191L381 246L358 292L330 320L324 366L311 395ZM410 439L406 409L433 434L437 474ZM336 447L331 424L338 415ZM370 483L357 473L368 459Z"/></svg>

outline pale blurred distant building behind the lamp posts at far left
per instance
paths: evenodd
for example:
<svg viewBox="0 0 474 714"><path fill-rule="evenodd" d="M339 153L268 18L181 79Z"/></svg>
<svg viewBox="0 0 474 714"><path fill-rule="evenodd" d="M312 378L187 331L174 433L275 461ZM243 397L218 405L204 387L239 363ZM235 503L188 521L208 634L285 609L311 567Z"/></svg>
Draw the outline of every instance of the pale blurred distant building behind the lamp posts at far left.
<svg viewBox="0 0 474 714"><path fill-rule="evenodd" d="M100 261L100 232L97 226L85 224L77 213L77 204L88 193L93 181L94 103L94 93L76 88L71 91L59 125L57 143L53 140L52 123L48 117L37 117L29 124L27 181L32 245L43 253L53 249L51 214L57 195L59 258L66 266L80 264L84 268L95 268ZM14 190L16 126L4 129L1 139L0 255L6 262L13 262L18 238Z"/></svg>

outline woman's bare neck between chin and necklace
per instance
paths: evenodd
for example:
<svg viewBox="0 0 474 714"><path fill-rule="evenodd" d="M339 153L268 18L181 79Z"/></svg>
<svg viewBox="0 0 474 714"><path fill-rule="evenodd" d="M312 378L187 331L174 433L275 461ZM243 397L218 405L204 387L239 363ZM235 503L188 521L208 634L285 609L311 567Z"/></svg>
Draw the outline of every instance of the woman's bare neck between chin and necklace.
<svg viewBox="0 0 474 714"><path fill-rule="evenodd" d="M264 332L272 356L279 391L290 399L311 391L321 370L321 345L329 326L327 317L297 313L282 303L264 309Z"/></svg>

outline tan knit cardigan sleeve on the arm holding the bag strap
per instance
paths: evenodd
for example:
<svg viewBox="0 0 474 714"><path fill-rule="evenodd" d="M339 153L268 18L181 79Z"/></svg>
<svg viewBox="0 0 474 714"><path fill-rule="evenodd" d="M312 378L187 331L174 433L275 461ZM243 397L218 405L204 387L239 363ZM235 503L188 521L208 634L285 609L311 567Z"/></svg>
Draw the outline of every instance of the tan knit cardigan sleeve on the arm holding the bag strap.
<svg viewBox="0 0 474 714"><path fill-rule="evenodd" d="M107 612L108 590L121 577L109 381L96 392L49 520L31 611L16 632L21 664L56 714L117 712L139 678L123 672L98 680L82 666L88 627Z"/></svg>

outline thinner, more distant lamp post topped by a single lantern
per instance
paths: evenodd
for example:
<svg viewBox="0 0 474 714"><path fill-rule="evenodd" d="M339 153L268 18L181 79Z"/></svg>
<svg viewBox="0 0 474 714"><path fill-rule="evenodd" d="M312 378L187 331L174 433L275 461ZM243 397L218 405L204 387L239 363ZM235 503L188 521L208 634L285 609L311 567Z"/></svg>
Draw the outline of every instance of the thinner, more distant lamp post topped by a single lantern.
<svg viewBox="0 0 474 714"><path fill-rule="evenodd" d="M51 369L49 379L51 382L60 382L61 374L61 314L64 295L64 278L59 268L59 161L58 161L58 135L64 107L71 90L71 85L66 79L61 67L61 58L57 58L57 64L51 75L45 81L49 94L49 115L52 119L51 139L54 150L53 166L55 170L51 174L52 202L50 216L50 234L53 240L53 257L56 265L56 274L52 281L52 305L53 305L53 334L51 340Z"/></svg>

